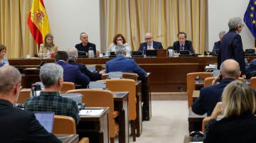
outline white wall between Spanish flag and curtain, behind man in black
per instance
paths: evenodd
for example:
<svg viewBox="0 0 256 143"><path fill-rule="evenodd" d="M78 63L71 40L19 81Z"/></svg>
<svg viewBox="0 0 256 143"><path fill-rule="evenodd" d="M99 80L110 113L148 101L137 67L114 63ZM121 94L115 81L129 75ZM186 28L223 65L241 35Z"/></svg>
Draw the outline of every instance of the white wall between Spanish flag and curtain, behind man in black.
<svg viewBox="0 0 256 143"><path fill-rule="evenodd" d="M89 42L100 50L99 0L44 0L49 18L50 33L59 50L68 50L80 43L85 32Z"/></svg>

